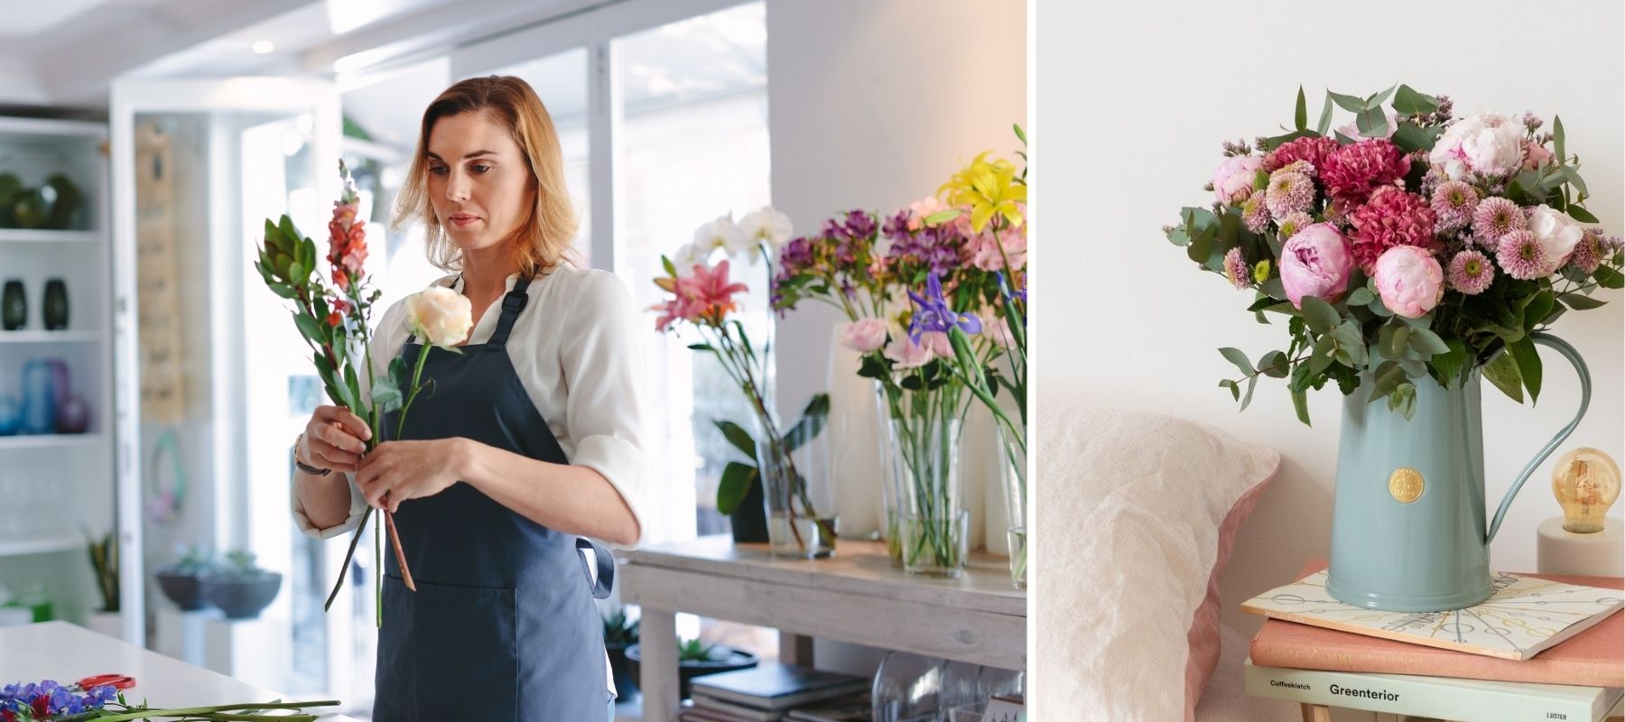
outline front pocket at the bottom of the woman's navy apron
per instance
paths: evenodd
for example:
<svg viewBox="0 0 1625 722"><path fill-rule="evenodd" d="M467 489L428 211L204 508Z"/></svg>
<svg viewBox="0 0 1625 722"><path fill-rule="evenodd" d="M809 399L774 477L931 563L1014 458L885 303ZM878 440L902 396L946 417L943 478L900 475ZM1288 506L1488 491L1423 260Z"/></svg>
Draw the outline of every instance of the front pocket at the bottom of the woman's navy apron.
<svg viewBox="0 0 1625 722"><path fill-rule="evenodd" d="M410 680L410 688L380 686L377 694L413 699L416 717L424 720L517 720L514 590L416 582L413 592L395 577L384 584L382 634L400 644L390 644L379 663L395 665L390 678ZM379 676L385 678L384 670Z"/></svg>

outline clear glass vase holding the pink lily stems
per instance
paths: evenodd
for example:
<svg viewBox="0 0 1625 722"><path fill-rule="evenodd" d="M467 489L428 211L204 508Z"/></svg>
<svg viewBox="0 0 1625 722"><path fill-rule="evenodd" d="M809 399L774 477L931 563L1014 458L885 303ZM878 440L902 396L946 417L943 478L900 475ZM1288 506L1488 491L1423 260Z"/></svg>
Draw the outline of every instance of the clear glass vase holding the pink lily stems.
<svg viewBox="0 0 1625 722"><path fill-rule="evenodd" d="M829 411L808 413L788 429L774 415L757 420L756 460L774 556L821 559L835 555L840 519L829 475L834 450L829 424Z"/></svg>

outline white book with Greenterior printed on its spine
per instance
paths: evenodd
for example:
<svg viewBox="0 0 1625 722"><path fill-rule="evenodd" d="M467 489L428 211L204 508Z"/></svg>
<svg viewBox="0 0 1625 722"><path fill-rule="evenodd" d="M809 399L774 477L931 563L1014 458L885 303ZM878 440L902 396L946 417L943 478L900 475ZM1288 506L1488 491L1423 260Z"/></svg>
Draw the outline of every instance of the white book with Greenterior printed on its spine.
<svg viewBox="0 0 1625 722"><path fill-rule="evenodd" d="M1251 660L1245 680L1246 693L1256 698L1456 722L1597 722L1622 698L1618 688L1295 670Z"/></svg>

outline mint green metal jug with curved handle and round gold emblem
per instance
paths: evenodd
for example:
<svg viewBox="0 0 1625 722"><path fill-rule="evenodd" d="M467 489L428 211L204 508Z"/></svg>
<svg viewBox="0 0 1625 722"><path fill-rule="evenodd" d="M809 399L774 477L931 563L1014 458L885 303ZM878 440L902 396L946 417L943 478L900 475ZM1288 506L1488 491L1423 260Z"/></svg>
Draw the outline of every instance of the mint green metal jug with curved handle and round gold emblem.
<svg viewBox="0 0 1625 722"><path fill-rule="evenodd" d="M1531 333L1580 372L1580 411L1529 462L1485 530L1480 374L1441 387L1417 379L1407 421L1370 398L1372 377L1344 398L1328 590L1384 611L1440 611L1490 598L1490 540L1513 496L1591 405L1591 372L1563 340ZM1505 351L1503 351L1505 353Z"/></svg>

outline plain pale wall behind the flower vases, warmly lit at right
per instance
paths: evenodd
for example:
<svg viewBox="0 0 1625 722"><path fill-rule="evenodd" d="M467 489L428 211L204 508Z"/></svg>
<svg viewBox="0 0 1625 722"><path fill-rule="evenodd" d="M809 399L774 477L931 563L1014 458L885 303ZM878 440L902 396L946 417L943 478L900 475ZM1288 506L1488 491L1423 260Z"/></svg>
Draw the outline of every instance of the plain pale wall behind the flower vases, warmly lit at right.
<svg viewBox="0 0 1625 722"><path fill-rule="evenodd" d="M1025 125L1020 0L775 0L767 3L767 37L774 205L795 220L798 234L850 208L889 211L930 195L983 150L1008 158L1016 150L1011 124ZM824 311L798 309L778 322L785 411L798 413L829 385L838 314ZM996 489L996 467L980 468ZM848 504L843 535L860 528L848 520L861 509ZM999 524L990 542L1001 542ZM821 667L834 659L824 646L817 654Z"/></svg>

